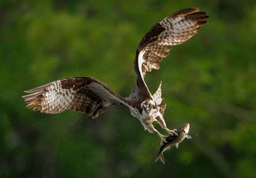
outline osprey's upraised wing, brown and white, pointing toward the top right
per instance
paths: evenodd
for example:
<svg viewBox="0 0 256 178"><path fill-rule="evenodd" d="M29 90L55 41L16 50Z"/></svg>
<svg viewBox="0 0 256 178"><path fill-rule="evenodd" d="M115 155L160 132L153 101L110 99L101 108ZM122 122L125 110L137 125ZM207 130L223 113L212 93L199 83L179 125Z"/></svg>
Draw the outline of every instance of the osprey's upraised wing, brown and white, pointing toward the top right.
<svg viewBox="0 0 256 178"><path fill-rule="evenodd" d="M134 59L137 82L143 85L142 90L148 90L143 79L146 71L159 69L159 63L163 57L168 56L172 45L179 45L189 40L201 25L207 23L205 20L209 16L205 12L198 11L198 7L177 11L155 24L143 37L137 46Z"/></svg>

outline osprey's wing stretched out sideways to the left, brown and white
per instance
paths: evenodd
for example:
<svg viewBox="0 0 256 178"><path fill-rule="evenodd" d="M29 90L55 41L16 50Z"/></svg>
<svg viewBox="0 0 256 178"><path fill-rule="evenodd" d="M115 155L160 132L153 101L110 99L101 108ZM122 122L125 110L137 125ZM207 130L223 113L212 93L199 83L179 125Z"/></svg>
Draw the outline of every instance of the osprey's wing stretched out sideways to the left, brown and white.
<svg viewBox="0 0 256 178"><path fill-rule="evenodd" d="M130 107L127 99L93 77L61 79L25 92L31 93L22 96L28 104L26 107L42 113L60 113L70 109L95 118L111 104Z"/></svg>

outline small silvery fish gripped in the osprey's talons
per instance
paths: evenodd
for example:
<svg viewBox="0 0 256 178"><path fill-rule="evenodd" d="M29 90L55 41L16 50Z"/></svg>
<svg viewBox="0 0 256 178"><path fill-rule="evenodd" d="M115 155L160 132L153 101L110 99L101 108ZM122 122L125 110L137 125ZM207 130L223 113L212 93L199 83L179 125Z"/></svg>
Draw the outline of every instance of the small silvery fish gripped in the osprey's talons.
<svg viewBox="0 0 256 178"><path fill-rule="evenodd" d="M155 163L159 160L162 161L162 163L164 164L164 158L163 158L163 152L165 150L169 150L170 146L175 145L176 148L179 147L179 143L181 141L183 141L185 138L190 139L192 138L188 133L189 133L189 123L184 124L183 126L181 126L176 133L178 134L178 136L169 136L166 138L167 142L164 142L163 145L160 147L160 150L157 154L157 157L155 159Z"/></svg>

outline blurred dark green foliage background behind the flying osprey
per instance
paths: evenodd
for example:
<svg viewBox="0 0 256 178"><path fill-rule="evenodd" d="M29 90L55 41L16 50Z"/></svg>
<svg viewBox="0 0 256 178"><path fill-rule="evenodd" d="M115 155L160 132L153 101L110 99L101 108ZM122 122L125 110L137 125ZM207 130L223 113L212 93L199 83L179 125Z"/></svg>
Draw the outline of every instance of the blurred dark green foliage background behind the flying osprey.
<svg viewBox="0 0 256 178"><path fill-rule="evenodd" d="M151 93L163 82L167 126L191 126L192 139L166 151L165 165L154 164L158 136L126 107L96 119L26 109L23 90L71 76L129 96L137 44L159 20L195 6L209 23L145 77ZM1 1L0 177L255 177L255 19L255 0Z"/></svg>

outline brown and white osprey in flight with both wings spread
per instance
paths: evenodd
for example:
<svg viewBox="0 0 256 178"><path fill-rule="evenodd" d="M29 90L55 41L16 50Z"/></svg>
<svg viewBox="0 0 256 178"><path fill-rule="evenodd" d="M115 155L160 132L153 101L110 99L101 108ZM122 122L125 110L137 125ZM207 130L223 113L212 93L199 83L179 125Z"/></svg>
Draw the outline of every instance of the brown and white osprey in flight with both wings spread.
<svg viewBox="0 0 256 178"><path fill-rule="evenodd" d="M161 138L161 144L167 136L160 134L152 125L156 121L169 135L177 135L169 130L163 119L166 104L162 103L161 84L151 95L145 84L146 71L159 69L163 57L168 56L172 45L189 40L201 28L209 16L199 12L199 8L186 8L177 11L155 24L137 46L134 58L134 70L137 73L136 87L131 89L129 98L122 97L105 83L90 77L72 77L50 82L22 96L27 108L41 110L42 113L61 113L64 110L78 111L93 118L104 113L110 105L124 105L131 115L140 120L145 129Z"/></svg>

